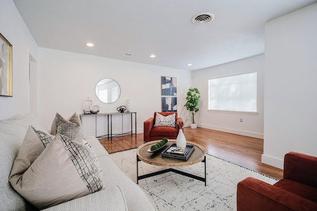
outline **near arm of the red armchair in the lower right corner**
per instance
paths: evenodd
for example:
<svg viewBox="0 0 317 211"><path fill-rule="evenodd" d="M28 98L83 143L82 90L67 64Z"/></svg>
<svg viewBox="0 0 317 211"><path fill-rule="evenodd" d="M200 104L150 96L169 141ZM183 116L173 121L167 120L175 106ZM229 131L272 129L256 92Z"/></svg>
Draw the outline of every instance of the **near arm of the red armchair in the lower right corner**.
<svg viewBox="0 0 317 211"><path fill-rule="evenodd" d="M237 211L313 211L317 203L248 177L237 186Z"/></svg>

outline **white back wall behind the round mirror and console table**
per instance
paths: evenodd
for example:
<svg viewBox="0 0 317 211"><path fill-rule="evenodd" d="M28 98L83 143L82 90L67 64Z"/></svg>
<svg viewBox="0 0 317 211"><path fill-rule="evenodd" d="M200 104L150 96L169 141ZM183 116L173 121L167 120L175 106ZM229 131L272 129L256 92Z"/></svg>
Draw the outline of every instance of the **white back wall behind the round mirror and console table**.
<svg viewBox="0 0 317 211"><path fill-rule="evenodd" d="M123 61L81 53L71 53L39 48L39 116L48 128L55 113L65 118L72 113L83 113L84 100L89 97L100 112L117 112L130 99L132 111L137 112L138 133L143 132L143 122L161 111L161 76L177 78L177 103L184 105L186 90L191 86L190 71L172 69L130 61ZM99 101L96 84L103 78L112 78L121 88L119 99L111 104ZM103 135L106 119L98 120L97 135ZM114 119L114 131L121 130L121 119ZM129 118L124 120L124 131ZM83 119L85 135L95 135L95 119Z"/></svg>

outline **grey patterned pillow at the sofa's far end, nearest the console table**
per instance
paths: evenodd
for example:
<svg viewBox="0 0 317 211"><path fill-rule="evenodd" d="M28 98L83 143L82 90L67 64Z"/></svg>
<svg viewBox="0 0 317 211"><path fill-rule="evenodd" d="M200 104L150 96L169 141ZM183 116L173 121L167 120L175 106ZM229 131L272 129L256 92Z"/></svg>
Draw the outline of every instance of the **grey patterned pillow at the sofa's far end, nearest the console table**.
<svg viewBox="0 0 317 211"><path fill-rule="evenodd" d="M57 133L67 136L73 141L84 139L84 130L76 112L68 119L64 119L59 113L56 113L51 134L56 135Z"/></svg>

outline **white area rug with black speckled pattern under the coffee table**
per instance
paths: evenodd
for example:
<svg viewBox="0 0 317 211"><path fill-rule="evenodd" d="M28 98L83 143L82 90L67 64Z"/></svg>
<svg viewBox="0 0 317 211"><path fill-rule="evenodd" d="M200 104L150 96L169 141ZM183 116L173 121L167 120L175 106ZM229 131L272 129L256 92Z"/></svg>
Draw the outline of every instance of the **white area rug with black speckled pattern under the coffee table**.
<svg viewBox="0 0 317 211"><path fill-rule="evenodd" d="M110 154L110 157L133 181L137 181L136 149ZM171 158L172 159L172 158ZM269 184L276 179L231 162L206 155L207 186L205 182L174 172L139 180L159 211L236 211L236 191L239 181L254 177ZM166 167L139 162L139 175L156 172ZM181 171L204 177L204 162L177 167Z"/></svg>

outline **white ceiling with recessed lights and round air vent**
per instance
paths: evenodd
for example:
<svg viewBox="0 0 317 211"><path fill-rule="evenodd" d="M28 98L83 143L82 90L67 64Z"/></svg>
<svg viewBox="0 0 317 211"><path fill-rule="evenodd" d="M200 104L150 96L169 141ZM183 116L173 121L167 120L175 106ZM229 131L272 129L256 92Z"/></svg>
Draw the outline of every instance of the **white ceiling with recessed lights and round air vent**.
<svg viewBox="0 0 317 211"><path fill-rule="evenodd" d="M265 22L317 0L13 0L39 47L197 70L264 53ZM191 18L212 12L195 25ZM92 42L94 47L85 43ZM131 57L123 53L133 54ZM156 54L151 58L150 54ZM187 66L192 63L192 66Z"/></svg>

